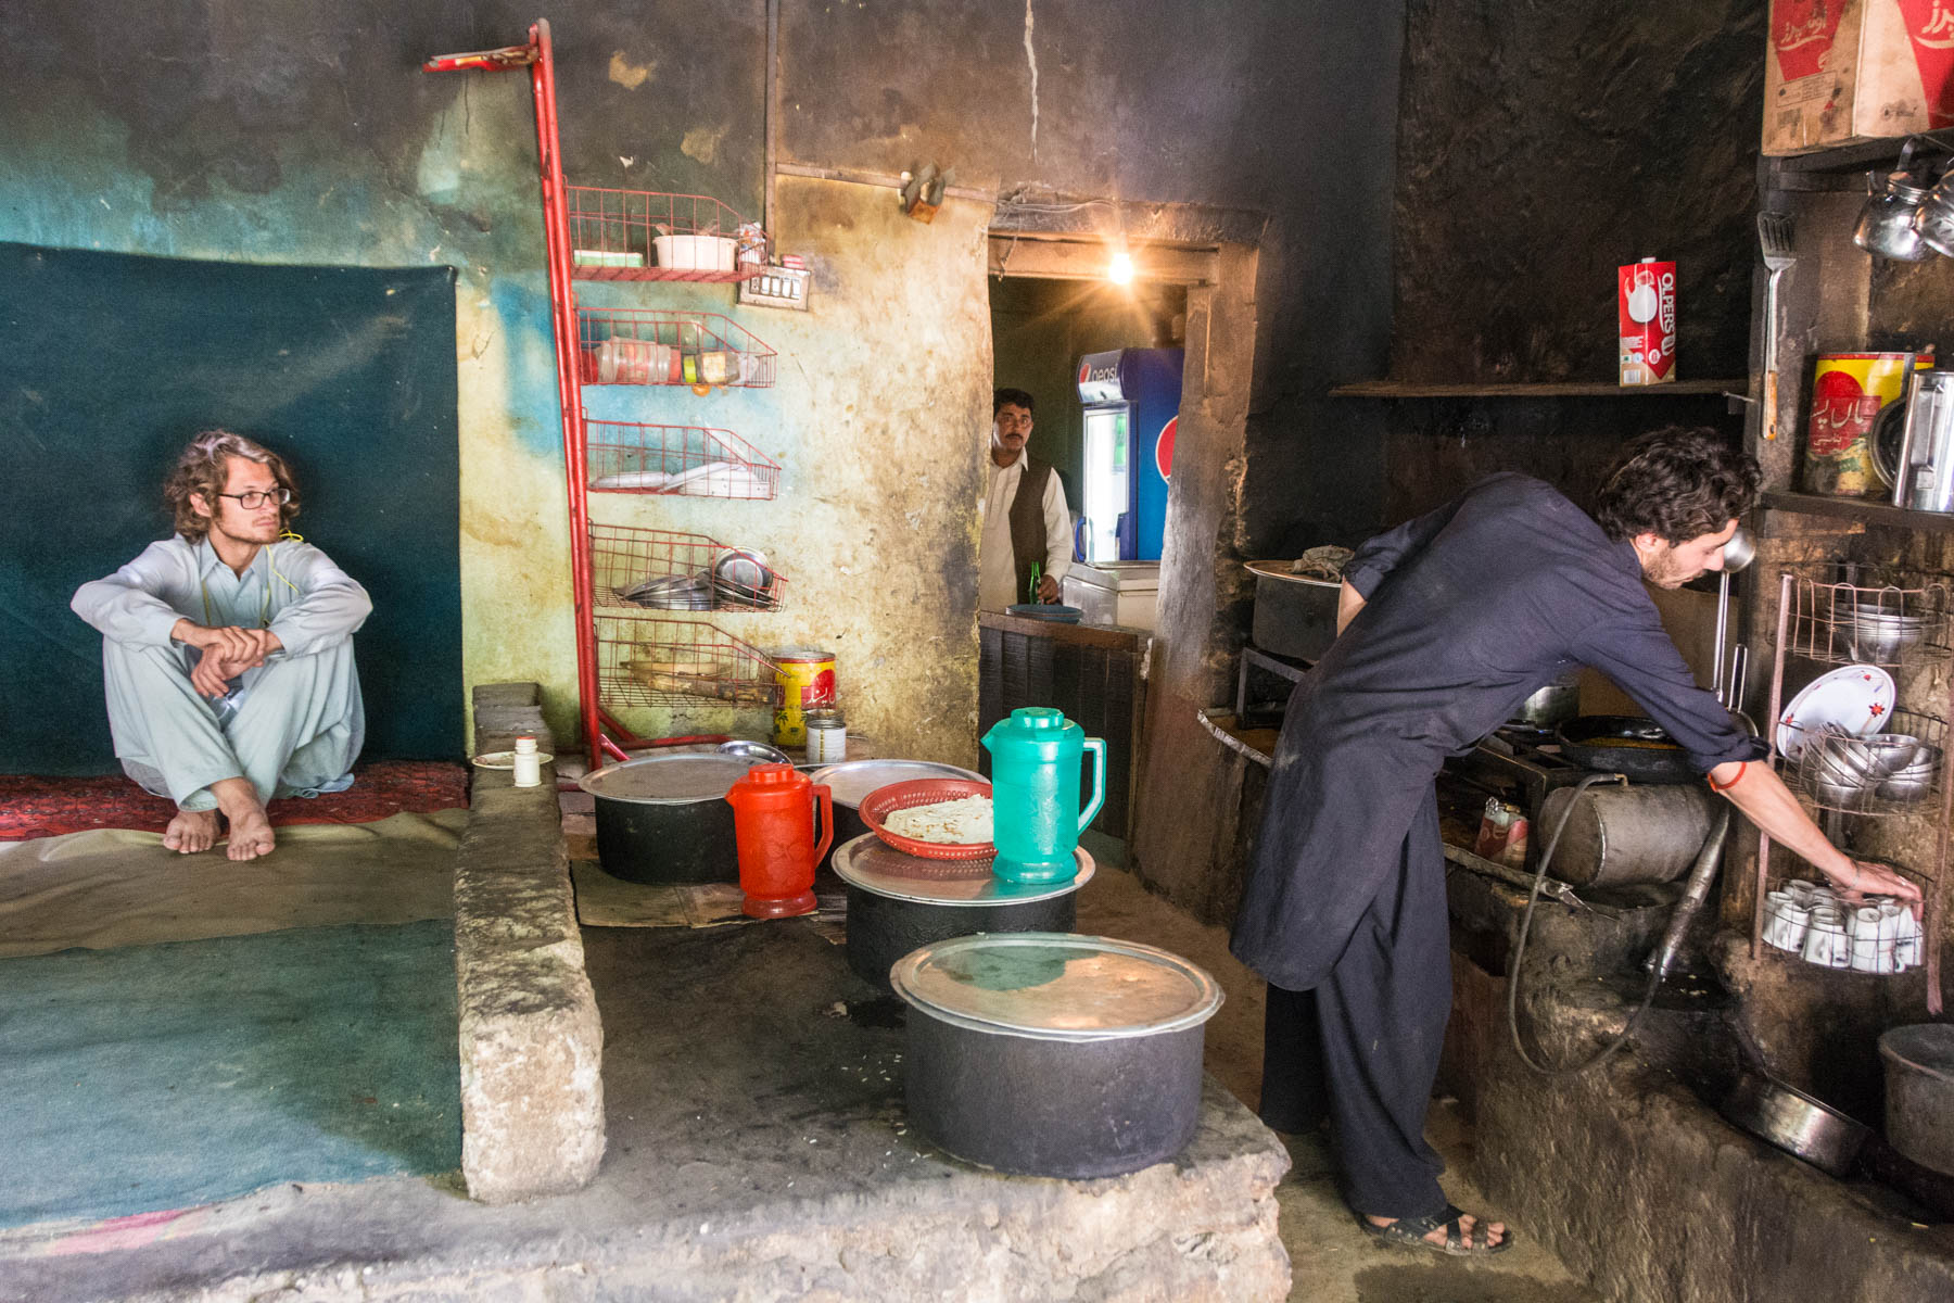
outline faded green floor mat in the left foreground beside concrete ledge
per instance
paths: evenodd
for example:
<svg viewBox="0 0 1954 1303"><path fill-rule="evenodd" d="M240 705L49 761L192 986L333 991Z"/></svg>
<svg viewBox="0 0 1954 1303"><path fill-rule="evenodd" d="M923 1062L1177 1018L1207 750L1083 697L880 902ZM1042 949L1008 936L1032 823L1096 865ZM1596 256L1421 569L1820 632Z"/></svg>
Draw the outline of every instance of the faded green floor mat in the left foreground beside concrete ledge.
<svg viewBox="0 0 1954 1303"><path fill-rule="evenodd" d="M453 924L0 959L0 1227L461 1164Z"/></svg>

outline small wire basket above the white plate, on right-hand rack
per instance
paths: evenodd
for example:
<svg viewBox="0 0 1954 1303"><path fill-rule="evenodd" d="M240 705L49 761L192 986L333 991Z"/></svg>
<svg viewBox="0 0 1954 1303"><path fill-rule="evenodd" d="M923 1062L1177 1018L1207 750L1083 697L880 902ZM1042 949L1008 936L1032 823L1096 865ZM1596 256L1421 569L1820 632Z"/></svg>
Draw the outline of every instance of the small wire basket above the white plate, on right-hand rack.
<svg viewBox="0 0 1954 1303"><path fill-rule="evenodd" d="M1856 567L1848 574L1860 578ZM1954 654L1946 580L1893 578L1891 584L1796 578L1786 651L1825 664L1878 666Z"/></svg>

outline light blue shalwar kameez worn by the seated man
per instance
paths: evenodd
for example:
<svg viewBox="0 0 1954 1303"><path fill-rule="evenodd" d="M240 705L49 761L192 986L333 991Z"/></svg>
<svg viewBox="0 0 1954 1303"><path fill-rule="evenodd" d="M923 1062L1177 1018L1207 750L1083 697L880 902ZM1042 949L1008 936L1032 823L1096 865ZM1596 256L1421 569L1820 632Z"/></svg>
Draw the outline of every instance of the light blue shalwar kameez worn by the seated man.
<svg viewBox="0 0 1954 1303"><path fill-rule="evenodd" d="M209 539L162 539L70 606L102 631L115 756L147 791L207 811L225 778L248 778L260 801L352 785L365 740L352 635L373 602L311 543L268 543L234 574ZM213 703L190 682L203 652L170 641L178 619L270 629L283 649Z"/></svg>

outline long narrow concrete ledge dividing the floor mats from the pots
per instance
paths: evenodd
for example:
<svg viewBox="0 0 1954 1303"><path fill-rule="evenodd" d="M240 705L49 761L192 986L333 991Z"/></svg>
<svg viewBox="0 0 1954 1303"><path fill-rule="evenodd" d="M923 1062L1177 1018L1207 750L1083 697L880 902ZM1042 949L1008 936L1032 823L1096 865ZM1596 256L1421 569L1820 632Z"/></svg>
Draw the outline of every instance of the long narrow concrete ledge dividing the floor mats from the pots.
<svg viewBox="0 0 1954 1303"><path fill-rule="evenodd" d="M533 684L475 690L475 748L535 733L553 750ZM508 1203L578 1190L604 1156L604 1028L584 975L557 811L541 787L475 770L455 865L461 1012L461 1172L469 1196Z"/></svg>

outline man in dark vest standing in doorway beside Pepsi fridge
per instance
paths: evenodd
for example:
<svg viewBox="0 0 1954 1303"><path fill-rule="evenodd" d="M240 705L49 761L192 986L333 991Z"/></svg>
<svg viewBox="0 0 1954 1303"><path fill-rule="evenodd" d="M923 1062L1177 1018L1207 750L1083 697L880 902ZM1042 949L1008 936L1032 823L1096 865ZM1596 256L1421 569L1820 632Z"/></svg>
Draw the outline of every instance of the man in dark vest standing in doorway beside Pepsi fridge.
<svg viewBox="0 0 1954 1303"><path fill-rule="evenodd" d="M1032 395L998 389L991 397L991 488L977 547L977 606L1002 611L1020 602L1057 602L1073 565L1073 518L1065 486L1032 441ZM1038 574L1038 582L1032 582Z"/></svg>

